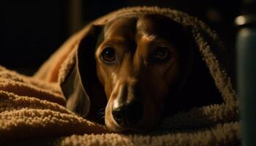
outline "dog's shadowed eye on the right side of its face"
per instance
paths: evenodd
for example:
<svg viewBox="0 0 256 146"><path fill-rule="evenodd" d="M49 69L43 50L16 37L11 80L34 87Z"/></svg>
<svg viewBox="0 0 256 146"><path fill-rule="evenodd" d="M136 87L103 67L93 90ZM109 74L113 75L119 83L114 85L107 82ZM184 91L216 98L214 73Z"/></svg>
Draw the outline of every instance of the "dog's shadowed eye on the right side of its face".
<svg viewBox="0 0 256 146"><path fill-rule="evenodd" d="M154 61L166 61L170 58L170 52L167 47L157 47L153 51Z"/></svg>

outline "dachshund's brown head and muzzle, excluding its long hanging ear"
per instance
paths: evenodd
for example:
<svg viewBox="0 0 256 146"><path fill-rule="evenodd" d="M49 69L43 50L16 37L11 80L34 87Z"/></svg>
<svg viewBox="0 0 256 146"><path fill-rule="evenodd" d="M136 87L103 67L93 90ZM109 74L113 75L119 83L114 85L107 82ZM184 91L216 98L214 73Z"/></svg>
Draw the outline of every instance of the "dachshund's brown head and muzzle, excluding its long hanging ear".
<svg viewBox="0 0 256 146"><path fill-rule="evenodd" d="M187 58L192 57L190 46L182 44L184 28L168 18L145 15L114 20L103 35L95 57L108 98L105 124L113 131L152 128L165 111L165 99L185 75L181 52L187 50Z"/></svg>

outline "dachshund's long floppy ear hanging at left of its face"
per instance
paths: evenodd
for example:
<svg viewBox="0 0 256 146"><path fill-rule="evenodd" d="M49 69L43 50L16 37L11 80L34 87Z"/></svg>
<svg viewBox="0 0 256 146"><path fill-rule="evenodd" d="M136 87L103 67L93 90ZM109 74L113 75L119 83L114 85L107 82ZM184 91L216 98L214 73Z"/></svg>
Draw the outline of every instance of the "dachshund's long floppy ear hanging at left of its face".
<svg viewBox="0 0 256 146"><path fill-rule="evenodd" d="M94 53L102 39L103 26L91 26L80 41L76 64L61 89L67 98L67 108L94 122L102 122L99 110L105 109L107 98L97 78Z"/></svg>

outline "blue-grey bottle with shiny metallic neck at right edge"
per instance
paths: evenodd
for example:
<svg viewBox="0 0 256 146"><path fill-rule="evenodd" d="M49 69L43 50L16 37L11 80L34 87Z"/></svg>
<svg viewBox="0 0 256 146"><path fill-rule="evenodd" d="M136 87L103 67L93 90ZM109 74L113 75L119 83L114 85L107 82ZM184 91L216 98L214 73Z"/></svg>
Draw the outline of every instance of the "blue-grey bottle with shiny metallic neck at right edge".
<svg viewBox="0 0 256 146"><path fill-rule="evenodd" d="M244 0L243 15L235 22L238 96L241 101L242 145L256 145L256 11L255 0Z"/></svg>

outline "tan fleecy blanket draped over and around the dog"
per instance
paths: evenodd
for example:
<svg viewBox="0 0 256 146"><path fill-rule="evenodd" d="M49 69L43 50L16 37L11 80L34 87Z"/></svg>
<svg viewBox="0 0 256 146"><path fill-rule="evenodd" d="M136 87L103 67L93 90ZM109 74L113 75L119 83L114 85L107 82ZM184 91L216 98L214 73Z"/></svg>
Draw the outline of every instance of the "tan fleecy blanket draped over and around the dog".
<svg viewBox="0 0 256 146"><path fill-rule="evenodd" d="M155 131L113 134L105 126L67 110L60 85L77 67L80 41L92 24L104 25L114 18L145 14L165 15L189 28L223 102L179 112L165 118ZM111 12L70 37L34 77L0 67L0 145L239 145L238 97L225 54L227 58L217 34L184 12L158 7Z"/></svg>

